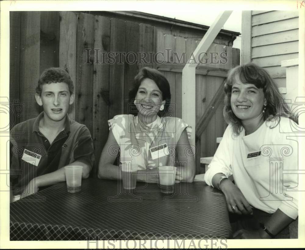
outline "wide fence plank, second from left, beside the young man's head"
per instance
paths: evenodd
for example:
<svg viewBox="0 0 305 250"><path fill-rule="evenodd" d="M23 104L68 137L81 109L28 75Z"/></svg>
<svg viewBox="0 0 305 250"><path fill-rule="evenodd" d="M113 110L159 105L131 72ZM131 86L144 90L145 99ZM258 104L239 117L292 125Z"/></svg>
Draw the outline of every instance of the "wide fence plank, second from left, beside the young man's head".
<svg viewBox="0 0 305 250"><path fill-rule="evenodd" d="M20 103L24 103L27 120L39 114L35 87L40 74L40 12L21 13L20 49Z"/></svg>

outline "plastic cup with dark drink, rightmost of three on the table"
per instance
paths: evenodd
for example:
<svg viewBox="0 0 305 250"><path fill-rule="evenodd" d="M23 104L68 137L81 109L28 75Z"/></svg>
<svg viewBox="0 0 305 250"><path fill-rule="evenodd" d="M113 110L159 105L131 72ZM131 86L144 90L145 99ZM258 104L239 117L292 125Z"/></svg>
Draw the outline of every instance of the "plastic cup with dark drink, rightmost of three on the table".
<svg viewBox="0 0 305 250"><path fill-rule="evenodd" d="M174 166L162 166L158 169L159 183L163 188L161 192L164 194L172 194L174 192L177 168Z"/></svg>

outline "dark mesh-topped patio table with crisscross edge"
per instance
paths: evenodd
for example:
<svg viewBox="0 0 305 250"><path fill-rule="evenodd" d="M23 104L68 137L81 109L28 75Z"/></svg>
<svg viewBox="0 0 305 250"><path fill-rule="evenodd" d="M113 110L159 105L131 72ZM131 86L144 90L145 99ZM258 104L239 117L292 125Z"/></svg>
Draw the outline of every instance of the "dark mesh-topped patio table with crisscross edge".
<svg viewBox="0 0 305 250"><path fill-rule="evenodd" d="M155 183L88 178L81 192L61 182L10 205L10 240L209 239L231 237L224 195L204 182L163 194Z"/></svg>

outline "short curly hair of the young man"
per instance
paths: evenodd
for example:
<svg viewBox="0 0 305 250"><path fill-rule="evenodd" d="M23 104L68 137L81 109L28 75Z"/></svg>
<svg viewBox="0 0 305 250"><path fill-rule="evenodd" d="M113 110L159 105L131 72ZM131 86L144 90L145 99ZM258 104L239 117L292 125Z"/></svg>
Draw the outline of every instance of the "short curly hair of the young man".
<svg viewBox="0 0 305 250"><path fill-rule="evenodd" d="M70 95L73 94L74 86L73 86L73 81L71 80L69 73L62 68L54 68L54 67L48 68L42 72L42 74L38 80L38 85L36 87L36 93L39 96L41 96L43 84L50 84L50 83L56 83L56 82L65 82L69 87Z"/></svg>

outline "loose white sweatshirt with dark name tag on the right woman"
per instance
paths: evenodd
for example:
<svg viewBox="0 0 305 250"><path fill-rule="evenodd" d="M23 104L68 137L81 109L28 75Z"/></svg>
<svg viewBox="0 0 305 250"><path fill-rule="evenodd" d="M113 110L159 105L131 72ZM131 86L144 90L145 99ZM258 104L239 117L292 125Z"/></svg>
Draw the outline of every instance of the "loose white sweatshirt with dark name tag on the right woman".
<svg viewBox="0 0 305 250"><path fill-rule="evenodd" d="M212 185L217 173L233 175L236 186L252 207L267 213L280 209L296 219L298 175L289 170L298 169L297 124L284 117L271 129L275 124L265 121L247 136L244 129L234 136L229 125L204 180Z"/></svg>

